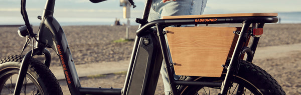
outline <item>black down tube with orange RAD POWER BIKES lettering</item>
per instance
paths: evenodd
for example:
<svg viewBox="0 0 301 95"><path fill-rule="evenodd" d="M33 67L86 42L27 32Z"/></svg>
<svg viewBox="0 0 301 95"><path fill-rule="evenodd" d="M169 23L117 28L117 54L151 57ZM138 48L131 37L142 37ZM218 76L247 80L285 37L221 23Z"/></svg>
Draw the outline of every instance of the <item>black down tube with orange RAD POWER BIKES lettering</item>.
<svg viewBox="0 0 301 95"><path fill-rule="evenodd" d="M71 51L69 49L66 35L62 27L59 25L56 19L51 16L45 18L44 24L45 28L49 29L52 33L52 37L54 39L52 48L57 52L59 56L70 93L72 95L80 95L79 88L81 88L81 85L75 69Z"/></svg>

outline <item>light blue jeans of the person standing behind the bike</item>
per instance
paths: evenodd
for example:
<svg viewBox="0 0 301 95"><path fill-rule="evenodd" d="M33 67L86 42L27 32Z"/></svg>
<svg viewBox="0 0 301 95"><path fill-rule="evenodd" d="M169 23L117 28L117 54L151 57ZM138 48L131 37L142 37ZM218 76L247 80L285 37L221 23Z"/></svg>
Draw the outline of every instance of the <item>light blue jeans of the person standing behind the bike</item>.
<svg viewBox="0 0 301 95"><path fill-rule="evenodd" d="M149 11L148 21L150 22L153 20L162 19L162 16L202 14L204 12L204 8L206 7L206 3L207 0L176 0L176 1L171 0L165 3L163 3L162 0L153 0L152 8L150 8ZM182 26L186 26L186 25L182 25ZM171 55L170 55L170 59L171 59ZM161 75L163 78L165 95L169 95L171 89L168 82L167 72L164 67L164 64L165 63L163 61L161 67ZM175 75L175 79L178 80L179 76Z"/></svg>

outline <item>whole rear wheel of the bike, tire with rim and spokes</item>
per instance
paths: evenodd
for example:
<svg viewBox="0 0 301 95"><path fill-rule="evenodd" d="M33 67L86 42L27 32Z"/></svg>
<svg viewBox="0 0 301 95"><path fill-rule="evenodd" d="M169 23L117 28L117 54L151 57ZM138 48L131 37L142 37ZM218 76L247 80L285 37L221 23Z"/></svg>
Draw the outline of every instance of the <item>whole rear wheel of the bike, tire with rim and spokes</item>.
<svg viewBox="0 0 301 95"><path fill-rule="evenodd" d="M224 76L224 75L223 75ZM227 95L285 95L281 86L266 71L260 67L241 61L237 75L233 75L233 83ZM224 77L188 77L182 76L180 80L222 82ZM181 95L218 95L221 88L179 86Z"/></svg>

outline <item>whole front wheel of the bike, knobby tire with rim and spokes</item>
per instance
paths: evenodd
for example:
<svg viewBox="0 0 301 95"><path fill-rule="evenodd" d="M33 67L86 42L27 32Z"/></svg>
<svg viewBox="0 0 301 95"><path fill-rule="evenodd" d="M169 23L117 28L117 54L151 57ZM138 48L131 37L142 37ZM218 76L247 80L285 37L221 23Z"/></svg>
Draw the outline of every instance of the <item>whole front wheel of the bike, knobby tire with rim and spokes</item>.
<svg viewBox="0 0 301 95"><path fill-rule="evenodd" d="M0 95L13 95L24 56L13 55L0 61ZM32 59L22 86L21 95L63 95L51 71Z"/></svg>

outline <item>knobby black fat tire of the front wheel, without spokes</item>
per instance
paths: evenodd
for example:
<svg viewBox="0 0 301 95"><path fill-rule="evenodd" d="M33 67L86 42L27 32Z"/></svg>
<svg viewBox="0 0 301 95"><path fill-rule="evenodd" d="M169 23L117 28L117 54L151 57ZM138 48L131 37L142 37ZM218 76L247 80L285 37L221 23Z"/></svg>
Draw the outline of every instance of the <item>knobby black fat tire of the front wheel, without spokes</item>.
<svg viewBox="0 0 301 95"><path fill-rule="evenodd" d="M2 59L0 61L0 79L1 76L5 76L7 72L20 70L23 57L24 55L12 55ZM37 84L35 85L42 88L42 92L44 92L42 95L63 95L62 89L53 73L39 60L34 58L31 60L27 75L31 75L34 80L37 80L39 86L37 86ZM0 80L0 92L5 84L4 81L6 80ZM3 94L0 93L0 95Z"/></svg>

